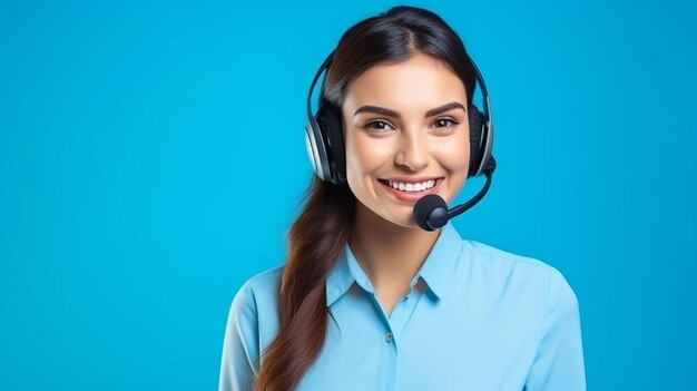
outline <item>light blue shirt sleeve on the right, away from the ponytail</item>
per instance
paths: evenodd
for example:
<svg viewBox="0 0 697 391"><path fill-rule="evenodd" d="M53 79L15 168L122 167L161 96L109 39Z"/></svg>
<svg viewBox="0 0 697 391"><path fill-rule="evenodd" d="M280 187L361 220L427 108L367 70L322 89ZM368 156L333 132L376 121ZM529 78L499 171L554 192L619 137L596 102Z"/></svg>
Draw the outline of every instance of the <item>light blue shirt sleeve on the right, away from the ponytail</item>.
<svg viewBox="0 0 697 391"><path fill-rule="evenodd" d="M542 338L524 390L586 390L578 299L556 268L551 273Z"/></svg>

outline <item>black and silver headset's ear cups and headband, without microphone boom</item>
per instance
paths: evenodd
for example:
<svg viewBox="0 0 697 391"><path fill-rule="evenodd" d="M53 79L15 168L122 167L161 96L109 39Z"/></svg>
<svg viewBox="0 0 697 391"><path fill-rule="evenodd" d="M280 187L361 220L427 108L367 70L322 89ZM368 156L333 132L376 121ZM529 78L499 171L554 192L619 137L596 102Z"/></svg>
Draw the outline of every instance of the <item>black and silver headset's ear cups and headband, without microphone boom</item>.
<svg viewBox="0 0 697 391"><path fill-rule="evenodd" d="M317 80L332 62L334 52L331 52L322 62L315 74L307 92L307 125L305 125L305 146L315 174L322 180L328 180L334 185L346 183L346 151L344 149L344 136L342 133L340 108L320 99L317 113L312 113L312 94ZM470 121L470 169L469 177L485 174L488 178L495 169L495 159L491 150L493 147L493 121L489 105L489 94L487 85L479 68L468 56L468 60L474 69L477 84L482 92L484 113L481 113L474 105L469 105ZM472 94L472 96L474 96Z"/></svg>

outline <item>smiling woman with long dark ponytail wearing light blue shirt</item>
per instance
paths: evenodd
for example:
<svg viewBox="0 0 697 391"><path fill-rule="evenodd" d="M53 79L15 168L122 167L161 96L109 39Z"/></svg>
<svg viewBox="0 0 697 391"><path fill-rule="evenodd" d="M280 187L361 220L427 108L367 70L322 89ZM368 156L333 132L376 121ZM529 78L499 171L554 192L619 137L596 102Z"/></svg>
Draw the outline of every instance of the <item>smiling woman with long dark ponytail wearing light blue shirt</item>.
<svg viewBox="0 0 697 391"><path fill-rule="evenodd" d="M423 196L451 202L493 169L457 33L395 7L348 29L324 67L318 177L285 266L233 301L220 390L585 390L563 276L414 218Z"/></svg>

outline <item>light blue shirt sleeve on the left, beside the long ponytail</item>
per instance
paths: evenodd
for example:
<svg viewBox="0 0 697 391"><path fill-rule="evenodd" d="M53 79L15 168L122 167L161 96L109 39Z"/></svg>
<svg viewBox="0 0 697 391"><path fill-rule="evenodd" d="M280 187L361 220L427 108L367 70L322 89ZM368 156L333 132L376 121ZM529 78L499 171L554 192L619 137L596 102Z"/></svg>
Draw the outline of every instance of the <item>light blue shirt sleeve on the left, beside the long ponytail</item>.
<svg viewBox="0 0 697 391"><path fill-rule="evenodd" d="M219 391L252 390L256 375L254 362L258 356L257 309L248 284L233 299L220 362Z"/></svg>

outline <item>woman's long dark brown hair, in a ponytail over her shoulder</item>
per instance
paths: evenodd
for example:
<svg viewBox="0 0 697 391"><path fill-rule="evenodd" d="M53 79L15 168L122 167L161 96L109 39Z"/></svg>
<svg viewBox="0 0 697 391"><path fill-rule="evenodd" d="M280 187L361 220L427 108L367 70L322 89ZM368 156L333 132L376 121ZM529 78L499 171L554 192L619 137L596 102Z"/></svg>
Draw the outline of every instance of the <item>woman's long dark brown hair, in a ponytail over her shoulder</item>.
<svg viewBox="0 0 697 391"><path fill-rule="evenodd" d="M472 101L474 70L462 41L439 16L413 7L394 7L360 21L342 36L322 99L340 108L346 86L365 70L406 61L418 52L449 65L463 81L468 102ZM355 205L347 185L313 179L288 234L288 260L278 292L279 331L262 355L255 390L295 389L324 345L331 316L325 282L348 242Z"/></svg>

